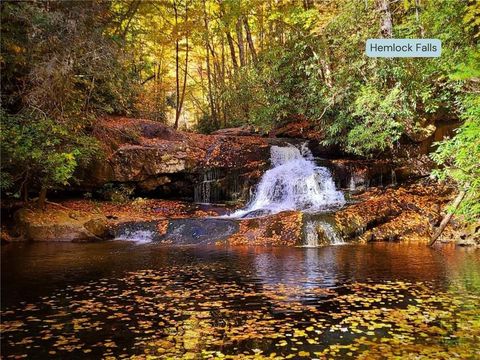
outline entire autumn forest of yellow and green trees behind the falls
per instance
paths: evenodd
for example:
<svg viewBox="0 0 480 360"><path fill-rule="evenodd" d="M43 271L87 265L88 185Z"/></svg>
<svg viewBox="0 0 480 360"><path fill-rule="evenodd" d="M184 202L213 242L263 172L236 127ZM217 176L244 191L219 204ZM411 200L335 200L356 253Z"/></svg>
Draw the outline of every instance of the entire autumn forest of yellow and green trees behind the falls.
<svg viewBox="0 0 480 360"><path fill-rule="evenodd" d="M68 187L106 115L209 133L306 119L321 143L387 156L438 121L432 175L480 216L480 1L2 1L1 187ZM364 55L369 38L437 38L435 59Z"/></svg>

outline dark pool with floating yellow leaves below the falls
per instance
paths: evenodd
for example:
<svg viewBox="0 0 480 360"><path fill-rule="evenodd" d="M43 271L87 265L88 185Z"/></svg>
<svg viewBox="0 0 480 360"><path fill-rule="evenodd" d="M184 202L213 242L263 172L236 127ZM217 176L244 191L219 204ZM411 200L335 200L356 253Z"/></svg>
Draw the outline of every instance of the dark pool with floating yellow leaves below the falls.
<svg viewBox="0 0 480 360"><path fill-rule="evenodd" d="M2 246L5 358L475 358L480 251Z"/></svg>

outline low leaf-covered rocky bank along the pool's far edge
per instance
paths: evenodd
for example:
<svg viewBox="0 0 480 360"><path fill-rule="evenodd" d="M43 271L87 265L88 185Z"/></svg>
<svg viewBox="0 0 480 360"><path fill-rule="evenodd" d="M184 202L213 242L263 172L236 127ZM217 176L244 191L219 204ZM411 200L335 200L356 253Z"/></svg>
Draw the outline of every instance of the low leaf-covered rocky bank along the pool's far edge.
<svg viewBox="0 0 480 360"><path fill-rule="evenodd" d="M287 211L253 219L222 218L232 213L235 206L144 198L123 203L70 199L49 203L44 210L31 206L17 211L8 231L4 228L3 233L6 234L4 239L9 242L82 242L134 237L135 232L148 230L155 232L150 235L151 239L185 244L189 241L197 243L192 234L208 230L211 234L210 243L299 246L305 243L305 237L308 236L306 224L313 220L317 224L314 231L319 237L318 245L325 245L329 240L318 224L327 218L346 242L427 244L454 195L453 189L446 185L422 180L409 185L377 187L352 194L349 202L334 213L306 216L300 211ZM232 224L235 229L222 234L225 227L220 226L215 230L212 224ZM130 235L124 233L126 225ZM179 227L183 230L180 231ZM473 232L464 228L461 222L453 220L440 241L478 244L478 233L475 234L474 226L472 228Z"/></svg>

